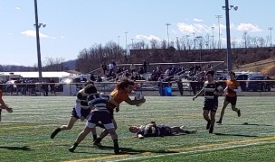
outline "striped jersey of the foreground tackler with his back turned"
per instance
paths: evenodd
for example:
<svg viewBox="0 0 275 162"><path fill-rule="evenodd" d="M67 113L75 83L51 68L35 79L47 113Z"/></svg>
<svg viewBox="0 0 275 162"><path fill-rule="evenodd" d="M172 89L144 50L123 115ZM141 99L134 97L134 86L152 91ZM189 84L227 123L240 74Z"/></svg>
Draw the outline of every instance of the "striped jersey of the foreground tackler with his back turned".
<svg viewBox="0 0 275 162"><path fill-rule="evenodd" d="M90 94L88 97L88 103L92 109L106 111L108 110L107 103L110 99L111 97L106 94Z"/></svg>

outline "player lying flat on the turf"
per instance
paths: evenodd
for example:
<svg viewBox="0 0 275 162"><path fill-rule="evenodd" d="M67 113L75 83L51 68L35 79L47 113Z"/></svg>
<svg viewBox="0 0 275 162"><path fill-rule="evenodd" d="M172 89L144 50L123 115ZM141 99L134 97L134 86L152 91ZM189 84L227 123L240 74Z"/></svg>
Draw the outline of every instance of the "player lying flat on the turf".
<svg viewBox="0 0 275 162"><path fill-rule="evenodd" d="M171 136L177 133L186 133L191 134L195 133L197 130L184 130L184 126L166 126L164 124L156 125L155 121L151 121L151 123L147 125L140 126L130 126L129 130L132 133L137 133L138 139L143 139L144 137L164 137Z"/></svg>

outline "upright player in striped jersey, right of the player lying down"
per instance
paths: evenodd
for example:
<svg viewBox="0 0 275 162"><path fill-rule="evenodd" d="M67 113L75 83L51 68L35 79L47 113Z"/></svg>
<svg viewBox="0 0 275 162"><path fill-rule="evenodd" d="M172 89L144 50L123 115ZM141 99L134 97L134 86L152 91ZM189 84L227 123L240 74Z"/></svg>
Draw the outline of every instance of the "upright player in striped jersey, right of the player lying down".
<svg viewBox="0 0 275 162"><path fill-rule="evenodd" d="M204 82L203 89L193 97L193 100L204 93L204 120L207 121L206 130L213 133L215 123L215 113L218 108L218 95L223 93L223 87L213 80L213 71L206 73L207 80ZM210 117L209 117L210 114Z"/></svg>

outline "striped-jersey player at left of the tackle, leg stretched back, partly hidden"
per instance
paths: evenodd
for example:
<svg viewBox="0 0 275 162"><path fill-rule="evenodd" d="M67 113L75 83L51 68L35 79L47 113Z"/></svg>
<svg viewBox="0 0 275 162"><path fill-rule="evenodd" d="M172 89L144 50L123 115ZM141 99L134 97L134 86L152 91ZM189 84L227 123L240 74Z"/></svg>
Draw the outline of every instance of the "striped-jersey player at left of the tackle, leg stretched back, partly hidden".
<svg viewBox="0 0 275 162"><path fill-rule="evenodd" d="M53 139L60 131L62 130L71 130L74 123L81 119L81 121L84 121L85 119L88 119L90 115L90 106L88 105L87 97L90 95L90 85L93 85L92 81L88 81L85 86L76 94L76 104L72 108L71 112L71 118L67 125L62 125L59 128L55 129L52 132L51 139ZM93 133L93 139L97 139L96 131Z"/></svg>

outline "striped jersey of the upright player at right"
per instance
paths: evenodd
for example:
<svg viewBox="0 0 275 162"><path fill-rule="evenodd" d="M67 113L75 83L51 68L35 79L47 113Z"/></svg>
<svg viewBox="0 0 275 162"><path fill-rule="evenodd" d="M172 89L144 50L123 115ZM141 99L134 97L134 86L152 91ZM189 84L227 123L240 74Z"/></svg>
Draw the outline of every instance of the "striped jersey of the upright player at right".
<svg viewBox="0 0 275 162"><path fill-rule="evenodd" d="M215 92L220 92L223 90L223 86L219 83L213 82L204 82L204 99L207 100L217 100L218 95Z"/></svg>

